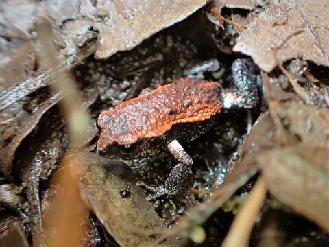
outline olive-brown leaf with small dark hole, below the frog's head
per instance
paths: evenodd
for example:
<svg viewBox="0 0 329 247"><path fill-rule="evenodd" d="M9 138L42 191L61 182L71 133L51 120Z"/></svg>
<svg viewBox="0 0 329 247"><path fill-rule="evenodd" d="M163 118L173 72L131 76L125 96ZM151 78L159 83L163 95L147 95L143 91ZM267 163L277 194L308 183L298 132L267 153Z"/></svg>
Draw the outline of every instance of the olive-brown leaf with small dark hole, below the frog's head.
<svg viewBox="0 0 329 247"><path fill-rule="evenodd" d="M164 222L151 202L145 200L145 193L136 186L136 176L125 163L96 154L77 154L71 164L82 168L82 197L120 246L145 246L155 242L156 239L145 232L164 228ZM123 196L121 191L127 189L127 184L129 193ZM174 243L171 239L162 245Z"/></svg>

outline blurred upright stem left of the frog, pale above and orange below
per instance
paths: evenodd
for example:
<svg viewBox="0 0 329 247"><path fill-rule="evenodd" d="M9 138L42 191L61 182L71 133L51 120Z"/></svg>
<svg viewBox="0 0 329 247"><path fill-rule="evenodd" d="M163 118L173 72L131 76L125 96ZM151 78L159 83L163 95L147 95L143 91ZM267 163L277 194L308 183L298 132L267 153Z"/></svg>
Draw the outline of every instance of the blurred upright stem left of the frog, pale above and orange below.
<svg viewBox="0 0 329 247"><path fill-rule="evenodd" d="M50 27L40 25L38 35L38 43L41 48L38 54L40 60L45 67L50 69L58 67L56 49L51 43ZM82 143L84 133L88 130L88 125L91 124L90 116L79 109L82 102L79 89L77 89L68 71L63 70L62 73L51 78L51 80L53 80L51 89L55 93L63 92L61 106L68 120L69 148L74 149ZM78 187L80 169L78 166L73 169L69 162L69 159L64 157L61 161L61 167L66 167L66 169L61 169L51 179L51 184L54 187L58 185L62 189L51 200L52 207L45 215L43 222L45 235L34 235L34 246L40 246L42 242L45 242L45 245L49 247L81 246L84 244L82 243L82 233L86 231L86 228L81 222L88 219L88 209L80 197Z"/></svg>

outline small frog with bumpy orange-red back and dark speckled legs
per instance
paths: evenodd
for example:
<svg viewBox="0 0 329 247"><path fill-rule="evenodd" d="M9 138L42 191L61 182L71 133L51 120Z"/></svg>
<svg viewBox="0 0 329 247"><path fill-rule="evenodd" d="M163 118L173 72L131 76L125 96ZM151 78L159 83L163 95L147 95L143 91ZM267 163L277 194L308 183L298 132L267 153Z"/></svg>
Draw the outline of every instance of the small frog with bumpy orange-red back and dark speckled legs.
<svg viewBox="0 0 329 247"><path fill-rule="evenodd" d="M232 89L222 89L218 82L181 78L101 113L97 151L109 158L132 159L167 149L179 163L163 185L147 187L153 192L147 200L177 191L193 165L180 143L210 130L222 109L250 109L259 102L252 60L235 60L232 78Z"/></svg>

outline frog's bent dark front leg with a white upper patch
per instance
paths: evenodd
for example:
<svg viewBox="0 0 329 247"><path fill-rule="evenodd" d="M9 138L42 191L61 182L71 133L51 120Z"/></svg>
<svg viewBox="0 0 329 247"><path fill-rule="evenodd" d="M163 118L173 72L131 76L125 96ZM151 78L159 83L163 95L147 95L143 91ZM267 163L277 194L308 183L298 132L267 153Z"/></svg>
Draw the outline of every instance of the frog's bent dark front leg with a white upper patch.
<svg viewBox="0 0 329 247"><path fill-rule="evenodd" d="M180 161L180 163L173 167L163 185L154 188L147 186L144 183L139 183L139 185L143 185L153 192L152 195L147 196L147 200L152 200L154 198L158 198L159 196L176 192L182 182L185 180L188 174L188 170L193 165L192 158L185 152L184 148L180 145L180 143L178 143L177 140L171 141L171 143L167 145L167 148L169 152L171 152L171 154L173 154L173 156L175 156L175 158Z"/></svg>

